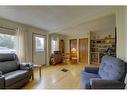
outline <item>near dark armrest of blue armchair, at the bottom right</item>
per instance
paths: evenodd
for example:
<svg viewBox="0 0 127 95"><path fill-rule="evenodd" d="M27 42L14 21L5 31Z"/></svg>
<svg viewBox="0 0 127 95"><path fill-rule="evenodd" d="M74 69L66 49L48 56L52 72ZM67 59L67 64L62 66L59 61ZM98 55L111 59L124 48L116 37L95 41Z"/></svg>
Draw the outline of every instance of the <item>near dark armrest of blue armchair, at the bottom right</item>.
<svg viewBox="0 0 127 95"><path fill-rule="evenodd" d="M125 83L115 80L92 80L92 89L124 89Z"/></svg>

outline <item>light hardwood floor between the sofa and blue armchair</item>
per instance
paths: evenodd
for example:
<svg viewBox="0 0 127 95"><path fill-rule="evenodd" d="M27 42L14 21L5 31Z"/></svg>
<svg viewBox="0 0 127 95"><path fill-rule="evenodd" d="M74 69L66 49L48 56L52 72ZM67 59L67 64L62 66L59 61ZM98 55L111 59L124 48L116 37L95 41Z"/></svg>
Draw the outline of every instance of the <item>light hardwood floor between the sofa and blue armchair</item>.
<svg viewBox="0 0 127 95"><path fill-rule="evenodd" d="M69 71L61 71L63 68ZM35 79L23 89L80 89L80 71L83 68L81 63L42 67L42 78L39 78L39 71L35 70Z"/></svg>

